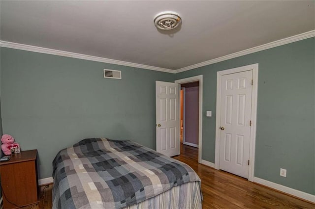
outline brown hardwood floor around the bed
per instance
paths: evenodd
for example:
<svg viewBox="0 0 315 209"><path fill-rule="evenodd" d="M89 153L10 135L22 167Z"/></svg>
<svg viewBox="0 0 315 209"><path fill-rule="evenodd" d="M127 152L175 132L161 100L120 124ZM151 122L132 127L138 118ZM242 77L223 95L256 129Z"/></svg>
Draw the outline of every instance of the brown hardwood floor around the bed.
<svg viewBox="0 0 315 209"><path fill-rule="evenodd" d="M199 175L203 209L315 209L314 204L199 164L197 148L182 145L181 155L174 158L189 164ZM42 196L39 205L25 209L52 208L52 184L44 188L40 187Z"/></svg>

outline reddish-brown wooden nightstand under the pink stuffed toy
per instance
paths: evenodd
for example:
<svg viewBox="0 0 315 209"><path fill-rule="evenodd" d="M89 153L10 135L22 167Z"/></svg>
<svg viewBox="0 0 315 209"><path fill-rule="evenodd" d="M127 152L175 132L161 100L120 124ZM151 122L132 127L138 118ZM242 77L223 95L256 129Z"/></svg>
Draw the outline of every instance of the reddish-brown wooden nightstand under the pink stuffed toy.
<svg viewBox="0 0 315 209"><path fill-rule="evenodd" d="M0 162L3 208L38 203L37 150L22 151Z"/></svg>

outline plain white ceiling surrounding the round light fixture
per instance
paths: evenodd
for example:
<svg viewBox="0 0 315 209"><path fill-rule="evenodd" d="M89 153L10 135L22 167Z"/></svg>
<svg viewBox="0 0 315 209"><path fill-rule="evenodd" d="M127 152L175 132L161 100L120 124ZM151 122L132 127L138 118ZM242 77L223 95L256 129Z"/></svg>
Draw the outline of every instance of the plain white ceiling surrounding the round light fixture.
<svg viewBox="0 0 315 209"><path fill-rule="evenodd" d="M153 23L162 11L183 23ZM0 39L180 69L315 29L315 1L0 1ZM173 33L173 34L172 34Z"/></svg>

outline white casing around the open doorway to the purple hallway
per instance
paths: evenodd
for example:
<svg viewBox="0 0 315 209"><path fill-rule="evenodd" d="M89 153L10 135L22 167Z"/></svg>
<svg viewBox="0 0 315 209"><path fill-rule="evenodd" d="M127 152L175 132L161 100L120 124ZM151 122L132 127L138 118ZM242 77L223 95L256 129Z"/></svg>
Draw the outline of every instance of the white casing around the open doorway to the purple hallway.
<svg viewBox="0 0 315 209"><path fill-rule="evenodd" d="M202 75L199 76L193 76L189 78L183 78L179 80L175 80L175 83L178 84L184 84L189 82L199 81L199 128L198 128L198 162L201 163L201 154L202 154ZM180 110L178 117L180 117ZM179 119L180 123L180 119ZM179 139L179 146L181 143L181 140Z"/></svg>

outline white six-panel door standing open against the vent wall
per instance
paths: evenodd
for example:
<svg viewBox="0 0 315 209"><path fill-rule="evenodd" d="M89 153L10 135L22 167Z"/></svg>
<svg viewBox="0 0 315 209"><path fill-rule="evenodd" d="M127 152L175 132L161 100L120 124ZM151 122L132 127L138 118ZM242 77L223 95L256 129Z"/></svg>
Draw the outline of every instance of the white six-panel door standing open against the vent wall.
<svg viewBox="0 0 315 209"><path fill-rule="evenodd" d="M157 151L168 157L180 154L178 83L156 81Z"/></svg>

